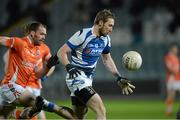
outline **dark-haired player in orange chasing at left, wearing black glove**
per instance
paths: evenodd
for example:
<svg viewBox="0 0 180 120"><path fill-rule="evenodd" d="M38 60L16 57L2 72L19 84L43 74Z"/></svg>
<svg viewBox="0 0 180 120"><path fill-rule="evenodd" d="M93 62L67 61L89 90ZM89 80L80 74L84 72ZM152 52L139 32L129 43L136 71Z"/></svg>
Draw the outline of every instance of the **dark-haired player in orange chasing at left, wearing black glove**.
<svg viewBox="0 0 180 120"><path fill-rule="evenodd" d="M24 38L0 36L0 45L9 48L7 72L0 84L0 118L8 118L17 105L25 107L21 119L32 118L43 108L64 118L73 118L71 109L57 106L41 96L36 97L26 89L32 76L39 79L58 63L57 56L51 56L44 44L46 26L35 22L28 30L29 34Z"/></svg>

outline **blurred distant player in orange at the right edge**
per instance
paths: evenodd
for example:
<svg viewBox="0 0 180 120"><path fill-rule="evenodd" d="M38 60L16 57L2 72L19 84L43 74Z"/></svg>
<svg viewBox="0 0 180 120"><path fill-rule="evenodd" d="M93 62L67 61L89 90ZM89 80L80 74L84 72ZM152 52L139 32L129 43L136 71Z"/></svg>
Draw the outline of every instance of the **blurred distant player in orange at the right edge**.
<svg viewBox="0 0 180 120"><path fill-rule="evenodd" d="M176 43L170 45L169 52L165 56L165 65L167 87L166 115L172 115L176 92L180 92L180 62Z"/></svg>

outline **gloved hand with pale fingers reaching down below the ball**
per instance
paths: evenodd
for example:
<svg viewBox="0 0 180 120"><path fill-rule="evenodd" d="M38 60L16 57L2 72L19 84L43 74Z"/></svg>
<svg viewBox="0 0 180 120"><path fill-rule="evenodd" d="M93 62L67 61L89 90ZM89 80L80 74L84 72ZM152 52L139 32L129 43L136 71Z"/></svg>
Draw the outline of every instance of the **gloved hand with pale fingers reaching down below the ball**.
<svg viewBox="0 0 180 120"><path fill-rule="evenodd" d="M131 81L129 81L127 78L118 76L117 83L122 89L122 93L129 95L133 93L133 89L135 89L135 86L130 84Z"/></svg>

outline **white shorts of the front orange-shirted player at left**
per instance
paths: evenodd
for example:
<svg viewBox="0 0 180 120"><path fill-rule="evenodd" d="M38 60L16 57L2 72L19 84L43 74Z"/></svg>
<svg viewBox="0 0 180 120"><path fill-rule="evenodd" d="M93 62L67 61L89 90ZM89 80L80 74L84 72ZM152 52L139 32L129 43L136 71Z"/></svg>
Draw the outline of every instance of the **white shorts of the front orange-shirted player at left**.
<svg viewBox="0 0 180 120"><path fill-rule="evenodd" d="M0 86L0 105L3 102L12 103L19 98L26 89L16 83L8 83Z"/></svg>

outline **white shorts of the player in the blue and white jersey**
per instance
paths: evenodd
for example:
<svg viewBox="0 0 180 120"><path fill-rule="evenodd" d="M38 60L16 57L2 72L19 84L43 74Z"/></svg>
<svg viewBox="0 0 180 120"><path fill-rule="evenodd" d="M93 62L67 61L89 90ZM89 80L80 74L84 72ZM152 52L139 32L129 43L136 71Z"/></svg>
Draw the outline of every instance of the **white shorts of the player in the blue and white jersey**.
<svg viewBox="0 0 180 120"><path fill-rule="evenodd" d="M71 92L71 96L74 96L76 90L92 86L92 77L87 77L83 71L81 71L81 75L78 75L78 77L74 79L69 79L69 74L67 74L66 84Z"/></svg>

